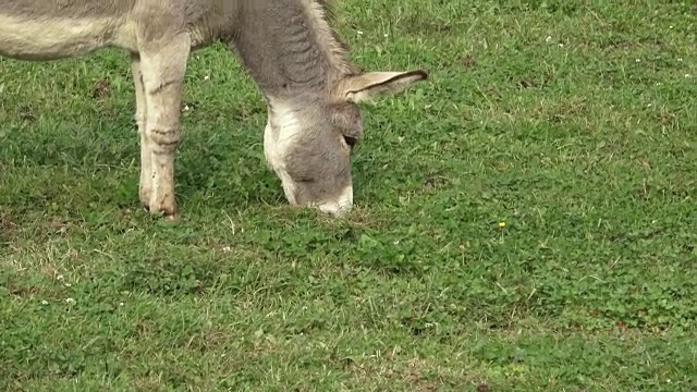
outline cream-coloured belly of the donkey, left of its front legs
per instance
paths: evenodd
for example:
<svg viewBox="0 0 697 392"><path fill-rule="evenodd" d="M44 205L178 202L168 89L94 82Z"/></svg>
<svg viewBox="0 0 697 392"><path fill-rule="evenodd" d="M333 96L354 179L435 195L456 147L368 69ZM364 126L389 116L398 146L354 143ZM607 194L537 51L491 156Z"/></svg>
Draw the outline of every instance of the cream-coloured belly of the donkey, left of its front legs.
<svg viewBox="0 0 697 392"><path fill-rule="evenodd" d="M0 56L51 60L88 53L108 45L135 48L126 23L108 17L28 19L0 13Z"/></svg>

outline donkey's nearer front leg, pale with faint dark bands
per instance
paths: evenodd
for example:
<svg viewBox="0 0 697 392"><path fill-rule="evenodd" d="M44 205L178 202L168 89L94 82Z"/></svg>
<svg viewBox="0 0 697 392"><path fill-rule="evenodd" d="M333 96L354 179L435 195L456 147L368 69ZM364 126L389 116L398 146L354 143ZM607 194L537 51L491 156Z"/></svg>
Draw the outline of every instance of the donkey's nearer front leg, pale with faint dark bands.
<svg viewBox="0 0 697 392"><path fill-rule="evenodd" d="M140 200L150 212L162 212L170 219L176 215L174 155L180 140L182 86L189 50L189 36L180 34L143 45L139 62L134 62L140 71L145 98Z"/></svg>

